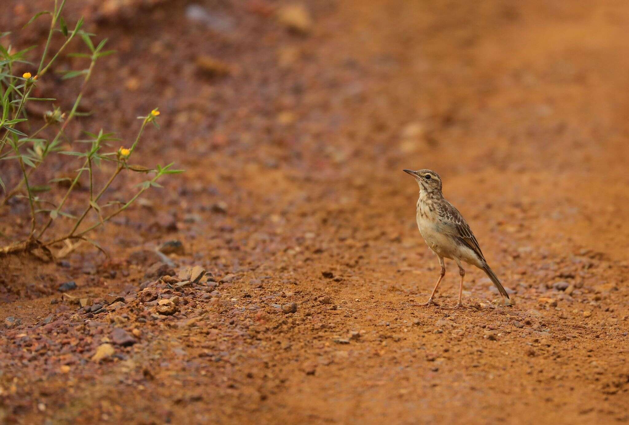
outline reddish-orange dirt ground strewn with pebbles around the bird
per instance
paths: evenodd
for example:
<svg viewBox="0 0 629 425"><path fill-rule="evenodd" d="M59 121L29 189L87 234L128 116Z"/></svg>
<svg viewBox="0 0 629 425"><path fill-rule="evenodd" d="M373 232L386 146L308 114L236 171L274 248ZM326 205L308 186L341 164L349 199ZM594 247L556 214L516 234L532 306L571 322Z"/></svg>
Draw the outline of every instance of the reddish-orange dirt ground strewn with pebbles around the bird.
<svg viewBox="0 0 629 425"><path fill-rule="evenodd" d="M76 280L77 297L123 292L118 309L59 310L56 292L3 306L3 320L23 325L0 336L0 417L628 422L629 57L619 52L629 48L629 8L325 1L309 4L311 35L295 36L247 4L220 10L237 29L214 45L186 29L183 6L157 8L130 32L104 26L118 48L133 38L171 46L168 60L140 54L150 41L123 50L93 95L123 63L118 75L181 90L111 94L113 105L161 102L174 117L148 157L188 170L150 211L172 213L177 230L150 230L138 207L101 235L110 263L97 267L103 260L86 250L69 269L33 277ZM195 49L240 71L184 84ZM177 122L188 123L185 136ZM442 175L445 196L516 291L514 307L493 302L479 270L464 292L478 311L411 306L438 276L414 222L417 188L401 172L424 167ZM181 290L179 314L156 318L136 294L150 264L128 260L175 239L186 246L179 266L234 276ZM18 280L28 266L6 265ZM438 299L446 304L453 266ZM49 313L53 326L41 326ZM135 329L135 343L92 362L114 328Z"/></svg>

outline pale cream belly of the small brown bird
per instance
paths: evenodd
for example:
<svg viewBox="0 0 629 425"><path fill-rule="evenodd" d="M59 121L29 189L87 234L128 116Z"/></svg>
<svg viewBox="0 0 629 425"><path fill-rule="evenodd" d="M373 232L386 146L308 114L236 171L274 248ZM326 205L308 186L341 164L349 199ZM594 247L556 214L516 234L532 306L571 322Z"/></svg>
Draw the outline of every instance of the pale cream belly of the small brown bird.
<svg viewBox="0 0 629 425"><path fill-rule="evenodd" d="M439 257L461 260L466 263L481 267L481 262L474 251L467 246L456 243L452 236L448 235L448 229L440 222L435 222L417 214L417 227L426 245Z"/></svg>

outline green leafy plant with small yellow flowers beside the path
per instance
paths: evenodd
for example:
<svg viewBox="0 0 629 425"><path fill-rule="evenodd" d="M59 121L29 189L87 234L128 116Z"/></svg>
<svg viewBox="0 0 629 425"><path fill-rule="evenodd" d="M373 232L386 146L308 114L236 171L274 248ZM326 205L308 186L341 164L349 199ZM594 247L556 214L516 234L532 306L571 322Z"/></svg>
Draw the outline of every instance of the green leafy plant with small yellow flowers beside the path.
<svg viewBox="0 0 629 425"><path fill-rule="evenodd" d="M55 0L52 12L40 12L33 16L27 24L28 26L43 15L48 14L51 18L50 31L48 32L48 38L35 75L32 75L31 72L25 72L21 77L14 75L14 67L18 64L21 67L28 66L35 69L36 65L27 59L28 52L32 50L32 47L19 52L12 52L11 46L5 48L2 45L2 39L8 36L9 33L0 33L0 108L2 108L0 114L0 186L3 192L3 196L0 197L0 208L6 207L9 200L14 197L25 199L30 208L30 224L28 225L27 235L22 240L14 241L11 245L0 247L0 257L41 249L45 255L53 259L55 255L50 248L64 241L69 246L72 246L72 240L84 240L102 250L96 242L87 238L87 234L117 214L125 211L145 190L150 187L161 187L157 180L163 175L182 172L182 170L172 169L172 163L165 167L157 165L155 168L130 165L129 163L130 157L138 148L138 143L146 126L155 124L156 127L159 127L157 125L157 117L160 113L157 109L153 109L146 116L138 117L138 119L142 120L142 124L130 148L121 147L118 150L113 150L113 152L105 152L108 150L108 142L118 141L119 139L114 138L112 133L105 133L103 130L100 130L98 133L85 131L84 133L88 137L87 140L75 140L77 143L86 143L86 150L67 150L67 148L63 147L68 145L68 143L62 145L62 142L68 141L65 131L68 124L82 115L79 113L78 108L84 96L87 83L92 72L94 72L97 60L114 53L112 50L103 50L107 42L106 39L94 45L92 41L94 35L86 33L81 29L83 25L82 18L75 24L74 30L69 30L62 16L64 5L65 0L61 0L60 3L59 0ZM63 43L51 57L49 53L51 41L54 36L58 35L63 37ZM89 60L89 66L82 70L64 72L62 78L73 79L81 77L82 84L79 94L69 111L64 112L59 108L53 107L51 111L44 114L41 125L36 130L31 130L31 122L37 122L38 120L30 118L26 114L25 105L28 102L53 102L57 100L31 97L31 93L38 82L51 69L53 63L65 52L72 40L77 39L77 37L84 42L89 52L70 53L68 56ZM47 138L45 136L47 134L51 136ZM74 145L74 143L70 143L71 145ZM33 185L31 182L33 182L33 174L45 170L48 158L51 158L53 155L77 157L79 168L74 179L65 179L69 180L69 187L67 187L63 196L61 196L61 193L63 193L61 192L56 194L57 197L45 197L45 192L55 191L53 185ZM16 167L6 166L9 162L13 162ZM113 170L109 179L105 182L99 182L97 181L99 174L95 173L95 167L103 167L104 163L110 164L108 167L113 168ZM3 170L11 168L19 170L18 182L13 187L7 187L5 181L8 181L8 179L6 179L6 175L3 175ZM152 174L152 176L140 184L139 189L128 201L99 204L99 200L105 191L122 172L139 172ZM79 184L79 180L85 174L89 178L89 195L81 196L77 194L75 189L77 184ZM53 179L49 183L55 183L59 180L64 179ZM98 187L99 189L97 189ZM54 199L57 199L57 202L54 202ZM73 201L74 205L77 202L79 204L83 203L83 207L79 208L79 210L82 210L80 215L74 216L64 210L64 206L67 206L69 201ZM86 218L90 213L96 216L94 223L86 223ZM62 218L74 221L74 223L70 222L69 231L64 231L60 235L48 236L48 233L51 233L50 228L53 221Z"/></svg>

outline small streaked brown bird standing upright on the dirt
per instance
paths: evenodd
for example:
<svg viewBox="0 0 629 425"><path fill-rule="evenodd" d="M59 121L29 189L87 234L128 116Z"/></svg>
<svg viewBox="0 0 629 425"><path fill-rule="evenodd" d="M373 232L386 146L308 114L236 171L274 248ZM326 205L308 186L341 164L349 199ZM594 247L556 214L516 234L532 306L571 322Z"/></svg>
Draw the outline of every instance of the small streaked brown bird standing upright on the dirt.
<svg viewBox="0 0 629 425"><path fill-rule="evenodd" d="M435 304L433 296L445 276L445 262L443 258L454 260L459 266L459 274L461 277L459 285L459 302L454 307L446 307L459 309L465 306L462 302L463 280L465 277L465 269L462 262L474 265L487 274L487 277L498 288L498 292L503 299L508 302L509 294L507 294L503 285L500 283L496 273L491 270L484 255L482 255L481 247L476 240L476 236L472 233L469 224L463 218L459 210L443 197L442 180L433 170L403 170L404 172L415 177L417 184L420 185L420 197L417 200L416 220L420 229L421 236L424 238L426 245L430 248L439 260L441 265L441 273L435 289L428 297L428 302L419 304L420 306L430 306Z"/></svg>

